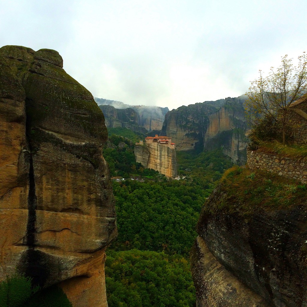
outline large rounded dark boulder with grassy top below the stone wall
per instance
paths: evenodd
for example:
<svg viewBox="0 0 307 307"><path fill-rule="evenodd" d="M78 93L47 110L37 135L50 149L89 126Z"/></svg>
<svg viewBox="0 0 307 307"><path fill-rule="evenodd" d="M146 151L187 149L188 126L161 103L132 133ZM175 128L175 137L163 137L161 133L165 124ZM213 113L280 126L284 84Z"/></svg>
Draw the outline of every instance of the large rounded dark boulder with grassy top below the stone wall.
<svg viewBox="0 0 307 307"><path fill-rule="evenodd" d="M299 181L228 171L204 204L190 255L197 306L305 306L306 217Z"/></svg>

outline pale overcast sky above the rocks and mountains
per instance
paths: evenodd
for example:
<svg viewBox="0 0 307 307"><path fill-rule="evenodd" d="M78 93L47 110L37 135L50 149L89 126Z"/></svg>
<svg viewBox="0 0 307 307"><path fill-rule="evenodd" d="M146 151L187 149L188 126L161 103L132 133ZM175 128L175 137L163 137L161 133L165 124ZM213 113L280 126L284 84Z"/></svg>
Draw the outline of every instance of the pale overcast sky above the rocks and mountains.
<svg viewBox="0 0 307 307"><path fill-rule="evenodd" d="M244 94L306 48L306 0L1 1L1 45L57 50L94 97L177 108Z"/></svg>

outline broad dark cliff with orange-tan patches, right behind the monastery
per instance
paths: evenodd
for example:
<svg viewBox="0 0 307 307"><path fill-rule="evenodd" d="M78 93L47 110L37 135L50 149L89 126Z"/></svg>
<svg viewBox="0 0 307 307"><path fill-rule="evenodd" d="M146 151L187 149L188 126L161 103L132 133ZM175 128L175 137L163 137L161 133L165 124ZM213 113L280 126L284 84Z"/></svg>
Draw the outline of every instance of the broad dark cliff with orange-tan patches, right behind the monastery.
<svg viewBox="0 0 307 307"><path fill-rule="evenodd" d="M223 152L238 164L246 162L245 98L226 98L182 106L165 115L162 135L169 135L177 150L213 150Z"/></svg>

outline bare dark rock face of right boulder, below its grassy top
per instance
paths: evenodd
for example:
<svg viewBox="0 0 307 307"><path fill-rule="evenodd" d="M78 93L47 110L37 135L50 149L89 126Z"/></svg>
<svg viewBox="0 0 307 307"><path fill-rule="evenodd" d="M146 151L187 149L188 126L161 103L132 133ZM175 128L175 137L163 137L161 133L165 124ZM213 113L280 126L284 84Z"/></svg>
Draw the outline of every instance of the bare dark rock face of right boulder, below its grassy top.
<svg viewBox="0 0 307 307"><path fill-rule="evenodd" d="M306 204L242 214L219 209L226 196L221 184L198 222L191 251L198 306L306 306Z"/></svg>

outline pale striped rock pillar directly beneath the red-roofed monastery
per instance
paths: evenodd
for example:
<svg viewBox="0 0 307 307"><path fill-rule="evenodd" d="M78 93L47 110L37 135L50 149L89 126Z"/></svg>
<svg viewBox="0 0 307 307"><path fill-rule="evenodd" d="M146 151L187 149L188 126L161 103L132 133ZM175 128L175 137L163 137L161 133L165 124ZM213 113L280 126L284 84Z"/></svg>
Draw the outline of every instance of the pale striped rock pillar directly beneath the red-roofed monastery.
<svg viewBox="0 0 307 307"><path fill-rule="evenodd" d="M166 177L177 177L176 151L167 145L144 143L134 147L135 161Z"/></svg>

